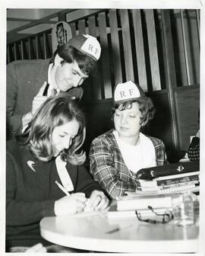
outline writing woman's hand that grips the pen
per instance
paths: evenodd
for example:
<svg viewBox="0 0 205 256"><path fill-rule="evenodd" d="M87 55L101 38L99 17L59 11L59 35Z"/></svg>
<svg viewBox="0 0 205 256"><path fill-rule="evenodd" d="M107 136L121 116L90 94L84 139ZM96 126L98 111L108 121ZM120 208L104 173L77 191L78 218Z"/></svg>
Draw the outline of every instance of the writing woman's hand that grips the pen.
<svg viewBox="0 0 205 256"><path fill-rule="evenodd" d="M55 201L56 216L84 212L87 198L84 193L75 193Z"/></svg>

